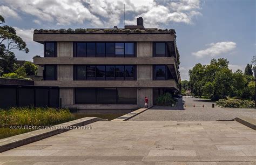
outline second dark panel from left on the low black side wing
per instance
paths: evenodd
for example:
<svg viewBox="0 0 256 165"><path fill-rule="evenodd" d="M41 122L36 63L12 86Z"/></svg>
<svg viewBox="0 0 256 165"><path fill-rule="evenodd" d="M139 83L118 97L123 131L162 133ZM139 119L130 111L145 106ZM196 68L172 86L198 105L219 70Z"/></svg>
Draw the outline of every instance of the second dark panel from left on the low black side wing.
<svg viewBox="0 0 256 165"><path fill-rule="evenodd" d="M34 89L33 88L19 88L18 92L19 107L34 105Z"/></svg>

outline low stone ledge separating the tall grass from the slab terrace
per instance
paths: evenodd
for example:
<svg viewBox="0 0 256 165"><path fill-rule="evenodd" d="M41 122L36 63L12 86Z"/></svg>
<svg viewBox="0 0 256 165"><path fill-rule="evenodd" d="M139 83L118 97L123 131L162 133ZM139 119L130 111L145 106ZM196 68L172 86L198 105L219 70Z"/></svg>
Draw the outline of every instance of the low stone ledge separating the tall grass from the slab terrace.
<svg viewBox="0 0 256 165"><path fill-rule="evenodd" d="M100 118L82 118L78 120L73 120L65 123L56 125L56 127L69 127L69 126L85 126L89 123L103 120ZM16 148L19 146L27 145L29 143L49 138L50 136L66 132L70 129L38 129L28 133L19 134L16 136L11 136L9 138L0 140L0 153Z"/></svg>

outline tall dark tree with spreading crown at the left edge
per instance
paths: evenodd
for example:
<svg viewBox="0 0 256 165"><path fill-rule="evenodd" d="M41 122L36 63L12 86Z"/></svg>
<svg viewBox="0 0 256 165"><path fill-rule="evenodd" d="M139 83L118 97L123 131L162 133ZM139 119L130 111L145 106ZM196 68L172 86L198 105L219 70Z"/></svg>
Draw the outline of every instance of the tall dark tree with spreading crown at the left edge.
<svg viewBox="0 0 256 165"><path fill-rule="evenodd" d="M4 18L0 15L0 24L5 22ZM0 64L2 73L14 72L15 67L15 54L13 50L29 52L28 47L23 39L16 34L16 30L11 26L0 26Z"/></svg>

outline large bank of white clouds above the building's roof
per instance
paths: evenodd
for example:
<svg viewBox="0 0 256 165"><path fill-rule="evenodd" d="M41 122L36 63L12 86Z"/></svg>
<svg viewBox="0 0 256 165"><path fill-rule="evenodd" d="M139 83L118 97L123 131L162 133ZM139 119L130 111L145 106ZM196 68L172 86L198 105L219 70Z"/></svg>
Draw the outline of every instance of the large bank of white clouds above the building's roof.
<svg viewBox="0 0 256 165"><path fill-rule="evenodd" d="M83 24L89 22L92 26L112 27L123 19L124 3L127 15L132 20L127 24L136 24L136 17L143 17L146 28L157 28L171 22L191 24L192 18L201 15L200 0L160 1L160 0L4 0L18 12L23 12L45 22L57 22L57 25ZM34 21L35 22L35 21Z"/></svg>

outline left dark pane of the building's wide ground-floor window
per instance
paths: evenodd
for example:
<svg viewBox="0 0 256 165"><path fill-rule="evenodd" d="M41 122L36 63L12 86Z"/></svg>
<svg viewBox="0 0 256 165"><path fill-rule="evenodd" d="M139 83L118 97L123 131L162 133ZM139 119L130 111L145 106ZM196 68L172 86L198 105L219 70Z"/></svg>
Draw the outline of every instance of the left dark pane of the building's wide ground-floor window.
<svg viewBox="0 0 256 165"><path fill-rule="evenodd" d="M75 104L95 104L96 88L76 88Z"/></svg>

